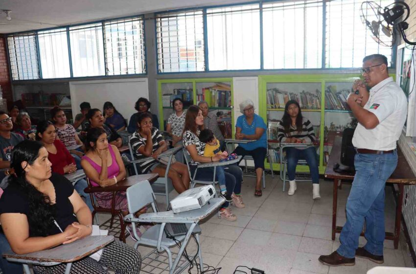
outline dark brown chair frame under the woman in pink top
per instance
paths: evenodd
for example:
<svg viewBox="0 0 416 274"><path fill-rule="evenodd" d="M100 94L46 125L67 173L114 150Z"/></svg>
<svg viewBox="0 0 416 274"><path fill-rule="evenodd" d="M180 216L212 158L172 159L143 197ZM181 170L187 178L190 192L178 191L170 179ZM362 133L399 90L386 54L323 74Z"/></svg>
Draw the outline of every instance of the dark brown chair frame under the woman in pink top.
<svg viewBox="0 0 416 274"><path fill-rule="evenodd" d="M126 224L123 221L124 219L123 219L123 214L121 213L121 210L115 208L115 206L116 206L115 205L116 204L116 192L111 191L111 192L113 192L113 197L112 197L112 201L111 201L111 208L104 208L104 207L101 207L101 206L98 205L98 203L95 200L95 197L94 197L93 193L109 192L109 191L107 191L105 187L93 186L88 177L87 177L87 183L88 183L88 188L86 188L84 191L85 191L85 193L90 194L92 207L94 208L94 210L92 211L92 219L95 218L95 221L97 222L97 218L95 216L96 213L100 213L100 212L101 213L111 213L110 228L113 228L114 217L117 216L119 221L120 221L120 235L118 236L118 238L120 239L120 241L123 241L125 243L126 242Z"/></svg>

